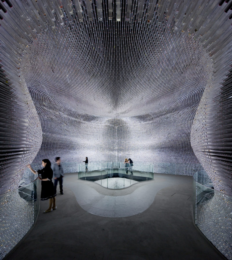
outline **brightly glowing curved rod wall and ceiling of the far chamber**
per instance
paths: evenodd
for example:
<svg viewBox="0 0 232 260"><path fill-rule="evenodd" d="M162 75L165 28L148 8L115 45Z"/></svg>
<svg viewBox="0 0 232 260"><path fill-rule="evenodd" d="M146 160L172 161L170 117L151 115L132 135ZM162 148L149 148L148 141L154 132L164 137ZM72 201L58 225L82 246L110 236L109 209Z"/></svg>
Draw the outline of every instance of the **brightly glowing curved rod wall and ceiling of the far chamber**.
<svg viewBox="0 0 232 260"><path fill-rule="evenodd" d="M146 6L141 22L137 15L125 21L125 3L120 22L110 19L107 3L102 7L99 21L95 8L88 12L83 4L80 22L63 6L63 26L48 26L26 49L21 73L43 129L34 163L57 154L64 166L85 156L131 157L154 163L156 172L193 174L201 166L190 131L213 74L209 54L187 30L165 16L158 21L164 6L156 5L151 23Z"/></svg>

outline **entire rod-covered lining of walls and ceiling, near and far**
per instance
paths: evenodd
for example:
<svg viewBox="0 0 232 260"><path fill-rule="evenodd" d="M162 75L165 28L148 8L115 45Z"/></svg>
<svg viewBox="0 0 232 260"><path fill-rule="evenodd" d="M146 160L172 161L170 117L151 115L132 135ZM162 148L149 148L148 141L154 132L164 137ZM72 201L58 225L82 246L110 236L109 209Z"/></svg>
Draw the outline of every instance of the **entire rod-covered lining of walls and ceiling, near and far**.
<svg viewBox="0 0 232 260"><path fill-rule="evenodd" d="M32 160L61 156L74 172L88 156L203 168L231 194L226 3L10 2L0 10L1 193Z"/></svg>

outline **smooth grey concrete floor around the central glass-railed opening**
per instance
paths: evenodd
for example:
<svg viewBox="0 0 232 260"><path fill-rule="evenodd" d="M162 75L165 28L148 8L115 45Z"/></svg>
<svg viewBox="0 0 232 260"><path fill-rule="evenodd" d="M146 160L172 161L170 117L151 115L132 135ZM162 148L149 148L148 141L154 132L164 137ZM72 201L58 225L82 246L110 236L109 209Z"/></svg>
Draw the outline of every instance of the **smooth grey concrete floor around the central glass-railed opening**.
<svg viewBox="0 0 232 260"><path fill-rule="evenodd" d="M133 214L97 216L101 210L106 214L116 196L125 198L122 215ZM153 199L144 206L146 197ZM157 174L153 181L115 191L67 174L57 210L44 214L47 207L41 201L34 228L5 259L225 259L193 224L190 176Z"/></svg>

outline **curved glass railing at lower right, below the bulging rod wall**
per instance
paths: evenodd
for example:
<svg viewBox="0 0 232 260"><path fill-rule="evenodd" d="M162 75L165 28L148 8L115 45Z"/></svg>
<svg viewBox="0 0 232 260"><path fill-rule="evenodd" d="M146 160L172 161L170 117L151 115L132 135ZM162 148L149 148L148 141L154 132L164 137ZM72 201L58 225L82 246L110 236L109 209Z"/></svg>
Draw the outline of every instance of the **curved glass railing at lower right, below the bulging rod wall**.
<svg viewBox="0 0 232 260"><path fill-rule="evenodd" d="M232 259L232 197L195 180L193 183L193 215L196 226L226 258Z"/></svg>

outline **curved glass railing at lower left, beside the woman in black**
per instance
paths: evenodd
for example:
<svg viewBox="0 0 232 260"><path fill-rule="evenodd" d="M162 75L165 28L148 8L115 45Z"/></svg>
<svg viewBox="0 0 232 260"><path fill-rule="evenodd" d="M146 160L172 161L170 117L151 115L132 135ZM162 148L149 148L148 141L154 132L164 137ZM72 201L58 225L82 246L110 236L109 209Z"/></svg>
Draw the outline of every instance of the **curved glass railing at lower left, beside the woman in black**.
<svg viewBox="0 0 232 260"><path fill-rule="evenodd" d="M0 259L26 235L39 212L37 180L0 195Z"/></svg>

